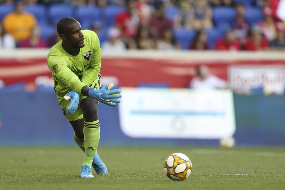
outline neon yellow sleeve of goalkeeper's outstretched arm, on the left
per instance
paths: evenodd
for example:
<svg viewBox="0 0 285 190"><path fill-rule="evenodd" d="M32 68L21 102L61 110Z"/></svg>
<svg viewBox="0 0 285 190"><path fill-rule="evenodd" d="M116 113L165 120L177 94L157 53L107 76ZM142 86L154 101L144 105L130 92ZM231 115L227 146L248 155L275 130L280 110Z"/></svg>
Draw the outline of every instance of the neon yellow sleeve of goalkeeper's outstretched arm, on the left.
<svg viewBox="0 0 285 190"><path fill-rule="evenodd" d="M77 75L68 68L67 63L58 61L48 60L48 68L58 80L69 86L73 91L81 94L81 89L86 84L80 81Z"/></svg>

